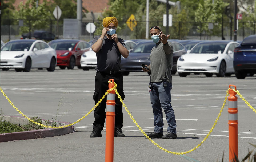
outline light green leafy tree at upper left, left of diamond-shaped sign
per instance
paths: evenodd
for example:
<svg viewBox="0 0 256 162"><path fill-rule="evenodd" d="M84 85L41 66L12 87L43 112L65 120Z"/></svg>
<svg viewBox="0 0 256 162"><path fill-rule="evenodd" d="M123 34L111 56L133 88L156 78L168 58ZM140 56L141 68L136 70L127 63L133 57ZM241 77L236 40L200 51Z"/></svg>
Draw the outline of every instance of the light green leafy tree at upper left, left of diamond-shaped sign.
<svg viewBox="0 0 256 162"><path fill-rule="evenodd" d="M50 11L46 8L46 3L36 7L34 0L27 0L25 3L21 2L18 6L18 10L15 11L15 17L23 20L23 26L21 26L19 32L27 33L34 29L43 29L49 26Z"/></svg>

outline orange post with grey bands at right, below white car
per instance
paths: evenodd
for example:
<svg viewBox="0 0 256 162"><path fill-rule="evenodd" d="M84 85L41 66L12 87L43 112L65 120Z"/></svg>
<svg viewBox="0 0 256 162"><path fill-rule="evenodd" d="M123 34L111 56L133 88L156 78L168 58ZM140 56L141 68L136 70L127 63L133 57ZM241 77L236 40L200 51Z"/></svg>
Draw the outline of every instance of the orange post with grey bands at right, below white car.
<svg viewBox="0 0 256 162"><path fill-rule="evenodd" d="M237 86L229 85L230 87L235 87L237 90ZM237 93L232 89L229 90L229 161L235 160L235 156L238 157L238 121L237 121Z"/></svg>

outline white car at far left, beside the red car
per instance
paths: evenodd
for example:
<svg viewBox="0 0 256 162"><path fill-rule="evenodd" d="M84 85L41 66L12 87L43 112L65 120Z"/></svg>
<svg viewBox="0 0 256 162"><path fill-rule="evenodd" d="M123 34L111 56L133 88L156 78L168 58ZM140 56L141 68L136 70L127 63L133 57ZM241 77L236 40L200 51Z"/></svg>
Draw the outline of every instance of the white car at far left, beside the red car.
<svg viewBox="0 0 256 162"><path fill-rule="evenodd" d="M30 71L31 68L47 68L54 71L56 51L42 40L11 40L1 47L2 70L15 68L15 71Z"/></svg>

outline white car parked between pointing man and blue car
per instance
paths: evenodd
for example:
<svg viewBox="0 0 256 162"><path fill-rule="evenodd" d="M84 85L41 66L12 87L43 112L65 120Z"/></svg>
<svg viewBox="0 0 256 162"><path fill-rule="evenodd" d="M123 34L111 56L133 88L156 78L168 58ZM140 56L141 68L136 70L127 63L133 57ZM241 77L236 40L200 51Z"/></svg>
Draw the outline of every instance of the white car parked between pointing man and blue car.
<svg viewBox="0 0 256 162"><path fill-rule="evenodd" d="M190 73L203 73L207 77L230 76L234 73L233 54L238 42L227 40L204 41L196 44L191 51L179 57L177 72L186 77Z"/></svg>

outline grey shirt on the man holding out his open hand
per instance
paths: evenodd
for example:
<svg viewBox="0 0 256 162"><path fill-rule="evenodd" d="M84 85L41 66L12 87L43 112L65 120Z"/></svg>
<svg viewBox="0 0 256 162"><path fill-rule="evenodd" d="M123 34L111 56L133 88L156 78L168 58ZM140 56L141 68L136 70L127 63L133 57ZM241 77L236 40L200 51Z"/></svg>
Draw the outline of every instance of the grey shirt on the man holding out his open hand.
<svg viewBox="0 0 256 162"><path fill-rule="evenodd" d="M167 81L172 83L171 68L173 67L173 45L156 43L150 54L150 82L161 82L167 76Z"/></svg>

